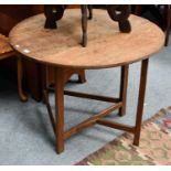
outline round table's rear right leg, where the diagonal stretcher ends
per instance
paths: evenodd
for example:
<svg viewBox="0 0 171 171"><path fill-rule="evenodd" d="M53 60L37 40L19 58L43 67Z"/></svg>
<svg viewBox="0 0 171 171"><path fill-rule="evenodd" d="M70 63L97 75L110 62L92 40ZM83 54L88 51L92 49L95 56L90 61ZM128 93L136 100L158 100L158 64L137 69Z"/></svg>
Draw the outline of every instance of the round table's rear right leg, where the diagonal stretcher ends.
<svg viewBox="0 0 171 171"><path fill-rule="evenodd" d="M128 74L129 74L129 65L121 66L119 99L120 101L122 101L122 107L119 109L119 116L124 116L126 114Z"/></svg>

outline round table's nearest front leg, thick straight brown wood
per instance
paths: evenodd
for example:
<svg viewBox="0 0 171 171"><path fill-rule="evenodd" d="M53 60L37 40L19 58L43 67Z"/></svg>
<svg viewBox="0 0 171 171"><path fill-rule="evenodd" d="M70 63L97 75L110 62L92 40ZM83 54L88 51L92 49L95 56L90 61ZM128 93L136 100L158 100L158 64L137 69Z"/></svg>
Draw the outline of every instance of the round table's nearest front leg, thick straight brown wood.
<svg viewBox="0 0 171 171"><path fill-rule="evenodd" d="M55 70L56 152L64 151L64 73Z"/></svg>

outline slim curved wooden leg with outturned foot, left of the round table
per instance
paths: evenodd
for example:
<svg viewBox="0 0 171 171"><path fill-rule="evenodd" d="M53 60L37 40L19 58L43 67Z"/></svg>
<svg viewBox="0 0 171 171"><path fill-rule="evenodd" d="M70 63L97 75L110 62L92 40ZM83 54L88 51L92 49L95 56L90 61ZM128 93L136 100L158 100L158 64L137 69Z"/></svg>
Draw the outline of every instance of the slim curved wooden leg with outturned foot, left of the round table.
<svg viewBox="0 0 171 171"><path fill-rule="evenodd" d="M21 56L18 56L17 67L18 67L18 92L19 92L19 96L20 96L20 99L22 101L26 101L28 97L22 90L23 66L22 66Z"/></svg>

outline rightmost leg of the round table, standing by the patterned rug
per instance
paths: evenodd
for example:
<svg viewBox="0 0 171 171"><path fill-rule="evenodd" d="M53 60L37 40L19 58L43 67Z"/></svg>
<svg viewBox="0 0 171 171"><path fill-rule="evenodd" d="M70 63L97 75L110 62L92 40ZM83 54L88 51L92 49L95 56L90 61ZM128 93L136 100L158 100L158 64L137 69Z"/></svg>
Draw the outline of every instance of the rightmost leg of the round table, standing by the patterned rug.
<svg viewBox="0 0 171 171"><path fill-rule="evenodd" d="M136 145L136 146L139 146L139 139L140 139L143 103L145 103L145 94L146 94L146 84L147 84L148 63L149 63L149 58L143 60L141 62L139 97L138 97L136 127L135 127L135 139L133 139L133 145Z"/></svg>

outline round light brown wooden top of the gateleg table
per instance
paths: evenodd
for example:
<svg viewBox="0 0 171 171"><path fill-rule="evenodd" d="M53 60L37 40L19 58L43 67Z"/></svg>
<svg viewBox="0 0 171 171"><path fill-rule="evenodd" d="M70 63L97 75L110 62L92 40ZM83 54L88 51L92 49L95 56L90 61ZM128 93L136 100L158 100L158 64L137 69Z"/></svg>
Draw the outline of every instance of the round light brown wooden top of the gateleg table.
<svg viewBox="0 0 171 171"><path fill-rule="evenodd" d="M60 67L103 68L130 64L158 52L163 32L152 22L130 15L130 33L120 33L105 10L94 10L88 20L86 47L81 45L81 10L66 10L57 29L44 29L45 17L38 14L17 24L10 43L24 56Z"/></svg>

